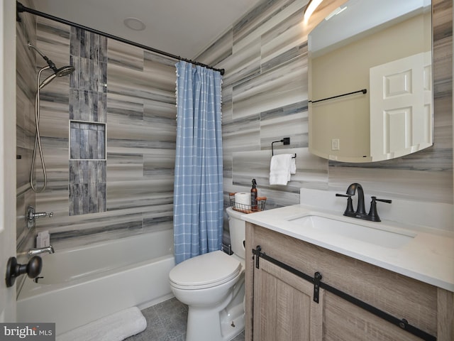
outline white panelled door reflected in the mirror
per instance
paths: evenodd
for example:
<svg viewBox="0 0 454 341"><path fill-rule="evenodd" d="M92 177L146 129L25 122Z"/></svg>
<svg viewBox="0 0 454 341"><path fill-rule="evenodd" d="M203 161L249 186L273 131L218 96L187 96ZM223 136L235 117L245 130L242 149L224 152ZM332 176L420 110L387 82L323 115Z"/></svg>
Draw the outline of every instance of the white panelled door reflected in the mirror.
<svg viewBox="0 0 454 341"><path fill-rule="evenodd" d="M371 67L370 156L397 158L432 145L431 52Z"/></svg>

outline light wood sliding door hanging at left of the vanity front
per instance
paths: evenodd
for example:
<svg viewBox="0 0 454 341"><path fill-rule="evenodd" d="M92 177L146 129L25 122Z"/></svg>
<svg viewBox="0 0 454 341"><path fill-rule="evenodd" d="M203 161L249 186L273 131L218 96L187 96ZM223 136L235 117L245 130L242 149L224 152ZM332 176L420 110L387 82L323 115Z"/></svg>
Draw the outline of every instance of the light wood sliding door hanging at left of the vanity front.
<svg viewBox="0 0 454 341"><path fill-rule="evenodd" d="M265 259L254 278L253 340L322 340L323 289L315 303L312 283Z"/></svg>

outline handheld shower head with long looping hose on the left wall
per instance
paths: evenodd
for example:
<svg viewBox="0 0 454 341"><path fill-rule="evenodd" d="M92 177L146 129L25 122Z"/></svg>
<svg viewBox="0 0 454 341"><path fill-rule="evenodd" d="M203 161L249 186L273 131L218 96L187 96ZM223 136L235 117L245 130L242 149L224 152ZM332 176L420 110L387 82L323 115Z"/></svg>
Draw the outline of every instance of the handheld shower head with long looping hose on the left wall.
<svg viewBox="0 0 454 341"><path fill-rule="evenodd" d="M36 94L35 94L35 146L33 148L33 157L31 161L31 170L30 170L30 185L31 189L35 191L36 193L43 192L45 190L47 183L48 183L48 177L45 171L45 164L44 164L44 156L43 156L43 148L41 147L41 138L40 138L40 90L43 89L46 85L48 85L52 80L54 80L55 77L62 77L66 75L70 75L72 72L74 72L74 67L72 66L64 66L60 67L60 69L57 69L55 64L47 58L38 48L33 46L30 42L28 42L28 48L32 48L35 50L45 61L48 63L48 65L41 67L40 70L38 71L38 76L36 78ZM43 82L40 82L41 78L41 73L45 70L52 70L53 73L52 75L48 76ZM38 148L39 153L40 153L40 160L41 160L41 167L43 169L43 187L42 188L36 188L35 184L33 183L33 173L35 171L35 158L36 158L36 149Z"/></svg>

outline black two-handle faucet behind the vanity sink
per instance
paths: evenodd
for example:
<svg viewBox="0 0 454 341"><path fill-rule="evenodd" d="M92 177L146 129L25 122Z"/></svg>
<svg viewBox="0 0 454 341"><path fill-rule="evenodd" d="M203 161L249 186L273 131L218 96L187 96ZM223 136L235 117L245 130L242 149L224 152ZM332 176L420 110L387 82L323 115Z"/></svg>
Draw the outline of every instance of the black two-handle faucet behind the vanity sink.
<svg viewBox="0 0 454 341"><path fill-rule="evenodd" d="M353 210L352 205L352 196L358 192L358 205L356 206L356 211ZM343 215L347 217L355 217L364 220L371 220L372 222L380 222L380 217L377 213L377 201L391 203L392 200L387 199L377 199L377 197L372 197L372 201L370 202L370 211L369 214L366 214L365 206L364 206L364 190L362 190L362 185L359 183L352 183L347 188L347 194L336 194L336 197L348 197L347 200L347 208Z"/></svg>

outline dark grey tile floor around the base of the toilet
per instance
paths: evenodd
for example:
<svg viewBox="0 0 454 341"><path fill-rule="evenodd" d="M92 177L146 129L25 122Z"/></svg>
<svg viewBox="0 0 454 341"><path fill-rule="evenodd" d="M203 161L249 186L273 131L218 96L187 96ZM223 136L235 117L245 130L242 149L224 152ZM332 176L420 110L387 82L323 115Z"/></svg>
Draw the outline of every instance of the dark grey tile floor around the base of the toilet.
<svg viewBox="0 0 454 341"><path fill-rule="evenodd" d="M147 328L128 337L126 341L185 341L187 305L177 298L153 305L142 310L147 320ZM232 341L244 341L244 332Z"/></svg>

